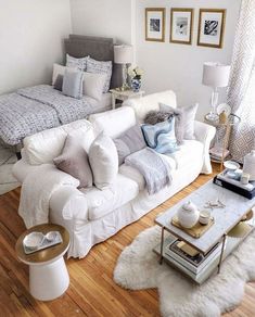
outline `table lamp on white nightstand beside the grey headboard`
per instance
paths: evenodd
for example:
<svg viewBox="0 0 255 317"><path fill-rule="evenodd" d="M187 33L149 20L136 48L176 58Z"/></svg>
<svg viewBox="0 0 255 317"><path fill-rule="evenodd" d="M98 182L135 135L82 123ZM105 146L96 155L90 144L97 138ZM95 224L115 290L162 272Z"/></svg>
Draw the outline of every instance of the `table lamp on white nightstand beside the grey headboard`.
<svg viewBox="0 0 255 317"><path fill-rule="evenodd" d="M132 47L131 46L114 46L114 62L123 64L123 86L122 90L129 89L127 83L127 64L132 63Z"/></svg>

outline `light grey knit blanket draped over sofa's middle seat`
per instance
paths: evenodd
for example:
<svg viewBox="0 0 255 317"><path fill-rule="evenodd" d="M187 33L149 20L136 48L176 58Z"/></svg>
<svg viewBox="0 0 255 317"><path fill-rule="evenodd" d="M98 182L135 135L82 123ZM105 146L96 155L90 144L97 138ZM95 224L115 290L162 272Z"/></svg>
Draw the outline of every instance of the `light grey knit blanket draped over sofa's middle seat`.
<svg viewBox="0 0 255 317"><path fill-rule="evenodd" d="M149 194L161 191L171 183L170 166L162 155L151 148L128 155L125 164L138 169L145 179Z"/></svg>

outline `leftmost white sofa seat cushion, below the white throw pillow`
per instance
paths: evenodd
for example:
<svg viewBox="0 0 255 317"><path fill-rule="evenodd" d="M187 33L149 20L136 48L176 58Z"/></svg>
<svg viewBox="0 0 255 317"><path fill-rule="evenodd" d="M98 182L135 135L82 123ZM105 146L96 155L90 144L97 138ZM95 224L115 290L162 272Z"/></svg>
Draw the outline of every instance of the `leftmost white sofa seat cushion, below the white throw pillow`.
<svg viewBox="0 0 255 317"><path fill-rule="evenodd" d="M139 193L137 182L118 174L115 183L105 190L97 187L80 189L88 202L88 217L95 220L135 199Z"/></svg>

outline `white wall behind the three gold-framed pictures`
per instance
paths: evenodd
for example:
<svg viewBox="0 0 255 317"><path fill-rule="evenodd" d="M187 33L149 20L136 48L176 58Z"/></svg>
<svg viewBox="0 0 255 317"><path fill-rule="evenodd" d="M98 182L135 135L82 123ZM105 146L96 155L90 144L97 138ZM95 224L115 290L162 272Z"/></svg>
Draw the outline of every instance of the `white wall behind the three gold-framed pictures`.
<svg viewBox="0 0 255 317"><path fill-rule="evenodd" d="M146 0L137 1L137 62L145 71L143 88L146 93L173 89L181 106L200 103L197 118L209 110L211 88L202 86L203 63L219 61L230 63L234 29L241 0ZM144 8L166 8L165 42L144 40ZM194 8L192 46L169 43L170 8ZM196 46L199 9L227 9L226 30L222 49ZM220 101L225 101L226 89L221 90Z"/></svg>

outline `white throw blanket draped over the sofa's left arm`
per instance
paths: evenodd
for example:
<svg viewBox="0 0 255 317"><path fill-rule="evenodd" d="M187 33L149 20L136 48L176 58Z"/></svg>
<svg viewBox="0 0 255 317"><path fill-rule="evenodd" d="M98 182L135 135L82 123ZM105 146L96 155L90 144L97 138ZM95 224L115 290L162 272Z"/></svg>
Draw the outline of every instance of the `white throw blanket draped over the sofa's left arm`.
<svg viewBox="0 0 255 317"><path fill-rule="evenodd" d="M42 164L29 173L22 186L18 215L27 228L49 221L50 199L62 186L79 186L79 180L59 170L53 164Z"/></svg>

